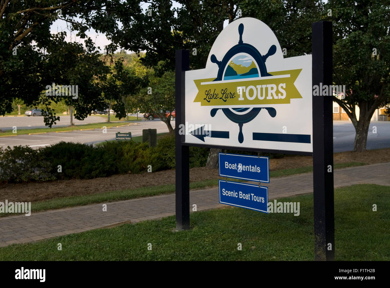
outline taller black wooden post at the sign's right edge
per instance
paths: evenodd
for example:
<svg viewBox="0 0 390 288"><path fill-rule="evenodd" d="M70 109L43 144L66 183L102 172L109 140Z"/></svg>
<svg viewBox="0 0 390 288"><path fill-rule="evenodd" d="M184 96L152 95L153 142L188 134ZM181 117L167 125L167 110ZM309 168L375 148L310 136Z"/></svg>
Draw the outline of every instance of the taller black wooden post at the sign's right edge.
<svg viewBox="0 0 390 288"><path fill-rule="evenodd" d="M332 85L332 22L312 24L312 84ZM329 90L329 89L328 89ZM323 95L323 91L319 91ZM333 99L313 96L313 188L315 260L335 258L333 200Z"/></svg>

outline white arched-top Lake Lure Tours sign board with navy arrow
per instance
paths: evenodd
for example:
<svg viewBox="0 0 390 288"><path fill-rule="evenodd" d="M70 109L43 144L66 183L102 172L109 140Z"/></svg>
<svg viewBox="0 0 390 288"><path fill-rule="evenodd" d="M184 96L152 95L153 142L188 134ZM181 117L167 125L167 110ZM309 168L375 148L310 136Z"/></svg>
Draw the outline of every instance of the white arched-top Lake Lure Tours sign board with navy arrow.
<svg viewBox="0 0 390 288"><path fill-rule="evenodd" d="M233 21L185 73L185 121L186 143L312 152L311 55L283 58L262 21Z"/></svg>

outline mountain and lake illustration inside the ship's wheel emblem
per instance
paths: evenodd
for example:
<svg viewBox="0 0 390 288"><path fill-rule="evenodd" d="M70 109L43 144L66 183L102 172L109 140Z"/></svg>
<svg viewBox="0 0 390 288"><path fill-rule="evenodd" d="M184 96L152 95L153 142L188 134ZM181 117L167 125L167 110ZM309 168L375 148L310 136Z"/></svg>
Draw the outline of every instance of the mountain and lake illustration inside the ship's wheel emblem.
<svg viewBox="0 0 390 288"><path fill-rule="evenodd" d="M238 55L234 57L226 67L223 80L243 79L259 77L259 70L252 59L247 55Z"/></svg>

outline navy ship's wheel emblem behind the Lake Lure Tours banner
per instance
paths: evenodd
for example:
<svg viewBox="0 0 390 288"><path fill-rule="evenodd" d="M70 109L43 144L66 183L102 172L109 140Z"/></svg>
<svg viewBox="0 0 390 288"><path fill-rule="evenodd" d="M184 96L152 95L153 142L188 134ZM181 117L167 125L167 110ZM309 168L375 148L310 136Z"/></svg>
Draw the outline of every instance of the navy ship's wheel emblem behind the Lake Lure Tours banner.
<svg viewBox="0 0 390 288"><path fill-rule="evenodd" d="M238 26L238 44L230 48L221 61L218 61L214 54L211 55L211 62L217 64L219 68L217 78L215 78L214 81L272 76L267 72L265 62L269 56L275 54L276 46L272 45L265 55L261 55L254 46L243 43L243 32L244 24L241 23ZM276 116L275 108L256 107L213 108L210 111L211 117L216 116L216 113L220 109L230 121L238 124L238 142L240 143L244 141L244 135L242 132L243 125L252 121L257 114L259 114L261 109L267 110L269 116L271 117Z"/></svg>

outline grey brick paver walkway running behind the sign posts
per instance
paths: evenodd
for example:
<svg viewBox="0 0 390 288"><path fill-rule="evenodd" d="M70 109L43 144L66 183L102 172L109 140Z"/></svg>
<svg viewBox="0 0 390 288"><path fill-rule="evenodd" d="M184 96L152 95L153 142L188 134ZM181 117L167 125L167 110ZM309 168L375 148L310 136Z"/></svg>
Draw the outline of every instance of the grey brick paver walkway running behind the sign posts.
<svg viewBox="0 0 390 288"><path fill-rule="evenodd" d="M360 183L390 186L390 162L335 170L335 188ZM271 178L270 183L264 186L269 187L269 200L306 194L313 192L313 176L312 173L304 173ZM175 194L106 203L106 212L103 212L102 204L32 213L27 217L25 215L2 217L0 247L175 214ZM192 204L197 204L197 211L226 206L219 204L218 187L191 191L191 212Z"/></svg>

